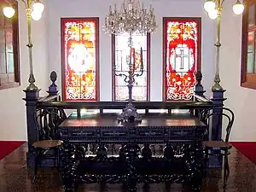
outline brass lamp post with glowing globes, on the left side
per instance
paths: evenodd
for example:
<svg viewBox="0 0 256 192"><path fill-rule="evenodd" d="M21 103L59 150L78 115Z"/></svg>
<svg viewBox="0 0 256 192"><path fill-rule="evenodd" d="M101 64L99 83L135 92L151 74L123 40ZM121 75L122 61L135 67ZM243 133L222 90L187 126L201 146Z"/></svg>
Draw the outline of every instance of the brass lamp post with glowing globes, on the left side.
<svg viewBox="0 0 256 192"><path fill-rule="evenodd" d="M34 84L35 77L33 74L33 63L32 63L32 35L31 35L31 20L40 20L42 14L44 12L44 4L41 3L39 0L21 0L25 4L26 9L26 20L27 20L27 40L28 43L26 46L28 47L28 54L29 54L29 79L28 82L30 83L26 90L36 91L38 87ZM15 15L15 9L12 7L10 3L8 7L3 8L3 15L8 18L12 18Z"/></svg>

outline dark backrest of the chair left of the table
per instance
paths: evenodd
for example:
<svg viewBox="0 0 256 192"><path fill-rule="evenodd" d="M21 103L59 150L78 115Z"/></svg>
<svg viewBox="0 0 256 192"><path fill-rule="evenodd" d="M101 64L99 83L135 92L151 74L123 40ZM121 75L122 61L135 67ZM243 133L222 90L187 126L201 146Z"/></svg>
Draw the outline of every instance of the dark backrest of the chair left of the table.
<svg viewBox="0 0 256 192"><path fill-rule="evenodd" d="M34 121L38 130L38 141L60 139L57 129L65 119L67 119L67 115L63 109L44 108L36 110Z"/></svg>

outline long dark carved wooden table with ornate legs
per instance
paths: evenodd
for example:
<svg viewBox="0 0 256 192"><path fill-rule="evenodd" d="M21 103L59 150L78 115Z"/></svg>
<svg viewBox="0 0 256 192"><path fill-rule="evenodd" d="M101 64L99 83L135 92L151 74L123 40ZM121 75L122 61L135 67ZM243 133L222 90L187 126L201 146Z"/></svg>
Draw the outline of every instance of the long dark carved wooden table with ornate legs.
<svg viewBox="0 0 256 192"><path fill-rule="evenodd" d="M137 183L181 182L200 191L205 124L190 115L148 114L138 125L121 125L116 118L113 113L81 117L73 113L60 125L66 192L74 191L81 181L124 183L129 192L137 191ZM89 143L98 148L95 156L85 157ZM109 143L121 144L119 156L107 155ZM152 155L149 144L156 143L166 144L162 156Z"/></svg>

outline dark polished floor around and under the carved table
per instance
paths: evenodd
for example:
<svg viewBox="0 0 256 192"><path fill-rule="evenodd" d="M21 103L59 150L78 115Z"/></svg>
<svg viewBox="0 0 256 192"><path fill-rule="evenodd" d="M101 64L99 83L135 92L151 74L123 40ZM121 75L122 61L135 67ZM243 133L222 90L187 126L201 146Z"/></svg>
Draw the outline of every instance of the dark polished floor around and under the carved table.
<svg viewBox="0 0 256 192"><path fill-rule="evenodd" d="M255 192L256 166L242 155L236 148L230 154L230 177L226 189L223 189L223 172L215 170L207 173L201 191L205 192ZM32 185L30 173L26 169L26 145L16 149L3 160L0 160L0 192L61 192L61 182L54 170L39 172L38 183ZM97 184L84 185L79 191L99 191ZM119 185L108 185L108 192L122 191ZM137 191L145 191L143 185ZM164 184L152 184L148 191L167 191ZM184 191L181 185L173 184L170 192Z"/></svg>

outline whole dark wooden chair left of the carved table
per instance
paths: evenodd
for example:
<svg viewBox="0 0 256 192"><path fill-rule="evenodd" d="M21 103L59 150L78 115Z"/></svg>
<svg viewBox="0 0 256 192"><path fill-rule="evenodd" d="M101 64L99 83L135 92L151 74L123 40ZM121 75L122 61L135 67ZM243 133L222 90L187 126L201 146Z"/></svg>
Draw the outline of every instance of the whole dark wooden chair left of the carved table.
<svg viewBox="0 0 256 192"><path fill-rule="evenodd" d="M59 168L59 147L62 141L60 140L61 136L57 133L57 129L64 119L67 119L66 113L58 108L38 109L34 113L35 125L38 130L38 142L32 143L35 155L32 183L35 183L37 179L40 157L53 156L49 151L57 156L55 166Z"/></svg>

